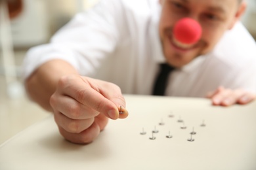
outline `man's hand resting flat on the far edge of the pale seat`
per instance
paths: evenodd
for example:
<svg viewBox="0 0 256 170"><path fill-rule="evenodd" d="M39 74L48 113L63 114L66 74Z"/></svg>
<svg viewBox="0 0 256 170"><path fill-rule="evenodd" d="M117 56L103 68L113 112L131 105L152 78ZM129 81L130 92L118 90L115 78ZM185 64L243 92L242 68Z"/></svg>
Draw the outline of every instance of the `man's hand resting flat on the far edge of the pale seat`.
<svg viewBox="0 0 256 170"><path fill-rule="evenodd" d="M230 106L236 103L245 105L253 101L256 95L242 89L230 90L221 86L214 92L209 92L207 98L211 99L213 105Z"/></svg>

